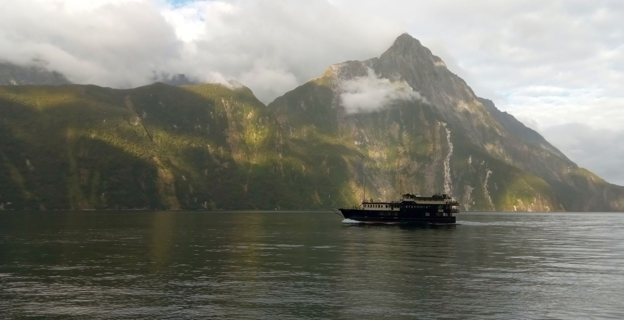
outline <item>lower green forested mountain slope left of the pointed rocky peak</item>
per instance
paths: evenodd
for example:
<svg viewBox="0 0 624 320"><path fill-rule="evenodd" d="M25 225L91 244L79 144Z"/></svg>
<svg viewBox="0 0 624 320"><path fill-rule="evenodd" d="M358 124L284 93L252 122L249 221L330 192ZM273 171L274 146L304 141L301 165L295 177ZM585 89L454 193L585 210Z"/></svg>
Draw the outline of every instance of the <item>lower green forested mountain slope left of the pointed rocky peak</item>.
<svg viewBox="0 0 624 320"><path fill-rule="evenodd" d="M348 180L246 87L0 87L0 110L6 209L323 208Z"/></svg>

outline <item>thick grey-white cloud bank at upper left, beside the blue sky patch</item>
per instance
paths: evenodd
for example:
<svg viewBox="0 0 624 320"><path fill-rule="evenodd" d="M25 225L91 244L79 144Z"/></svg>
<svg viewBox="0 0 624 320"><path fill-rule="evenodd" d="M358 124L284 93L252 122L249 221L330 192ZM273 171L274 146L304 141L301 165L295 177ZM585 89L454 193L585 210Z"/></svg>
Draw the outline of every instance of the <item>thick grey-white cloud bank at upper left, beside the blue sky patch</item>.
<svg viewBox="0 0 624 320"><path fill-rule="evenodd" d="M80 3L80 5L79 5ZM12 1L0 11L0 57L32 59L77 83L134 87L170 72L180 41L147 1Z"/></svg>

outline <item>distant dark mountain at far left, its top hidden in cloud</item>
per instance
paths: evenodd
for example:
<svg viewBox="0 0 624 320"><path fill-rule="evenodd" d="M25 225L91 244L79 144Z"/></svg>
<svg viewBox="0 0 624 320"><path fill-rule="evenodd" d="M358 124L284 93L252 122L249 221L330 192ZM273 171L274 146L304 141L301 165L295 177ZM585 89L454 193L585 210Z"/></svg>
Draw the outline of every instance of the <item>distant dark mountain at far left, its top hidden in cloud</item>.
<svg viewBox="0 0 624 320"><path fill-rule="evenodd" d="M69 84L67 78L56 71L47 70L43 64L16 65L0 62L0 85Z"/></svg>

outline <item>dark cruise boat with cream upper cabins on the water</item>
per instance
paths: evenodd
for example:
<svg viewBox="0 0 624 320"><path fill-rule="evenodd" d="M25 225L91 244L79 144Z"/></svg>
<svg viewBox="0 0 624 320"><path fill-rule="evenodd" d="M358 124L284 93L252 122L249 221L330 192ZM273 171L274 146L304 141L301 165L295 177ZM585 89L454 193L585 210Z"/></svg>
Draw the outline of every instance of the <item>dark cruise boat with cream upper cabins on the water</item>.
<svg viewBox="0 0 624 320"><path fill-rule="evenodd" d="M447 194L419 196L406 193L396 201L364 200L359 206L339 208L345 219L369 223L449 224L459 202Z"/></svg>

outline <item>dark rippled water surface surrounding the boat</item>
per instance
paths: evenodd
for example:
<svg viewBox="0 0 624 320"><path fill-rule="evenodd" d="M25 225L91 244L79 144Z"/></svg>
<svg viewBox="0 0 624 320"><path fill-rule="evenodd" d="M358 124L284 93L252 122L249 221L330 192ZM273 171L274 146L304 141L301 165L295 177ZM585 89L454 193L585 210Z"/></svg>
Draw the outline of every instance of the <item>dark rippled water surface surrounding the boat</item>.
<svg viewBox="0 0 624 320"><path fill-rule="evenodd" d="M623 319L624 214L0 213L0 318Z"/></svg>

